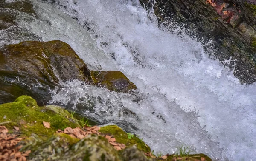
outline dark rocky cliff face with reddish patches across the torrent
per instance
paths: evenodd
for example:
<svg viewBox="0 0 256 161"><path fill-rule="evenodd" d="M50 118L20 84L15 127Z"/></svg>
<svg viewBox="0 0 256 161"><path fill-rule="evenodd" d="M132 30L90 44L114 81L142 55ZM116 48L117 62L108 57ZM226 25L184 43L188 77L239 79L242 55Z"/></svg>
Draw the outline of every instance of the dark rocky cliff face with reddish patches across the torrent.
<svg viewBox="0 0 256 161"><path fill-rule="evenodd" d="M234 60L234 75L241 83L256 82L255 0L140 0L154 8L159 25L175 32L176 23L191 37L199 36L214 59ZM214 48L210 48L212 40ZM214 50L213 52L211 52Z"/></svg>

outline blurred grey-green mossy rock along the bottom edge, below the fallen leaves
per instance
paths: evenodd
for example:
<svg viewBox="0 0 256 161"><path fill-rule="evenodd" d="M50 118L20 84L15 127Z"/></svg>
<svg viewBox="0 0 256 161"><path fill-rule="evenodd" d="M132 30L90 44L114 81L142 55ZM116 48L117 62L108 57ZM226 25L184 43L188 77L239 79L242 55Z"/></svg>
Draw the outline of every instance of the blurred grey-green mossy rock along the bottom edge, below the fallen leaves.
<svg viewBox="0 0 256 161"><path fill-rule="evenodd" d="M57 134L43 141L29 138L21 143L22 151L31 150L29 160L58 161L121 161L118 152L108 141L96 135L74 140L66 134ZM52 153L52 152L55 153Z"/></svg>

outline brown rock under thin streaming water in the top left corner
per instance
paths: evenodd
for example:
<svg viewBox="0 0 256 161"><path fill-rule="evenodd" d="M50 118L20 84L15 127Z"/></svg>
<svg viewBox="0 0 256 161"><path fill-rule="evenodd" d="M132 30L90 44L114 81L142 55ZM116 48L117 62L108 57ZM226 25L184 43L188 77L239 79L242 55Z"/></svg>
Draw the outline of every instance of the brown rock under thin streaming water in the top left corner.
<svg viewBox="0 0 256 161"><path fill-rule="evenodd" d="M41 41L41 37L19 25L20 20L30 22L36 17L34 6L28 0L0 0L0 48L17 40Z"/></svg>

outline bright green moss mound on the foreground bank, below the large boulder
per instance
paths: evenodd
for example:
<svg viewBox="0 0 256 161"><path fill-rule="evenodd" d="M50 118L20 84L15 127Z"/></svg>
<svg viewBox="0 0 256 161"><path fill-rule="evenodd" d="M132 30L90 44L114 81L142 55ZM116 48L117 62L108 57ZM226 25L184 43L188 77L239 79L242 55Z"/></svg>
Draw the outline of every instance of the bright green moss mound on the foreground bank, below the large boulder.
<svg viewBox="0 0 256 161"><path fill-rule="evenodd" d="M6 121L10 121L5 124L8 129L12 129L13 123L16 123L23 136L30 136L31 133L51 136L58 129L80 127L76 121L70 121L69 113L61 107L39 107L29 96L20 96L15 102L0 105L0 122ZM50 123L49 129L44 127L43 121Z"/></svg>

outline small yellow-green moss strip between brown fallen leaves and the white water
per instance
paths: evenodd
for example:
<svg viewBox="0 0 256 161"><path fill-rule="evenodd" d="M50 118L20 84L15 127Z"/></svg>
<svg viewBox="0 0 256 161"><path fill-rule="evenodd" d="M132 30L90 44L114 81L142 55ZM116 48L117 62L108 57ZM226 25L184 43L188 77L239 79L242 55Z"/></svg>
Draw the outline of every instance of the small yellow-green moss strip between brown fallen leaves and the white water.
<svg viewBox="0 0 256 161"><path fill-rule="evenodd" d="M136 145L139 150L145 153L151 151L150 147L148 147L148 145L145 144L140 138L134 135L134 137L129 139L127 133L116 125L101 127L99 132L107 135L113 135L113 137L116 138L116 142L123 143L128 147Z"/></svg>

